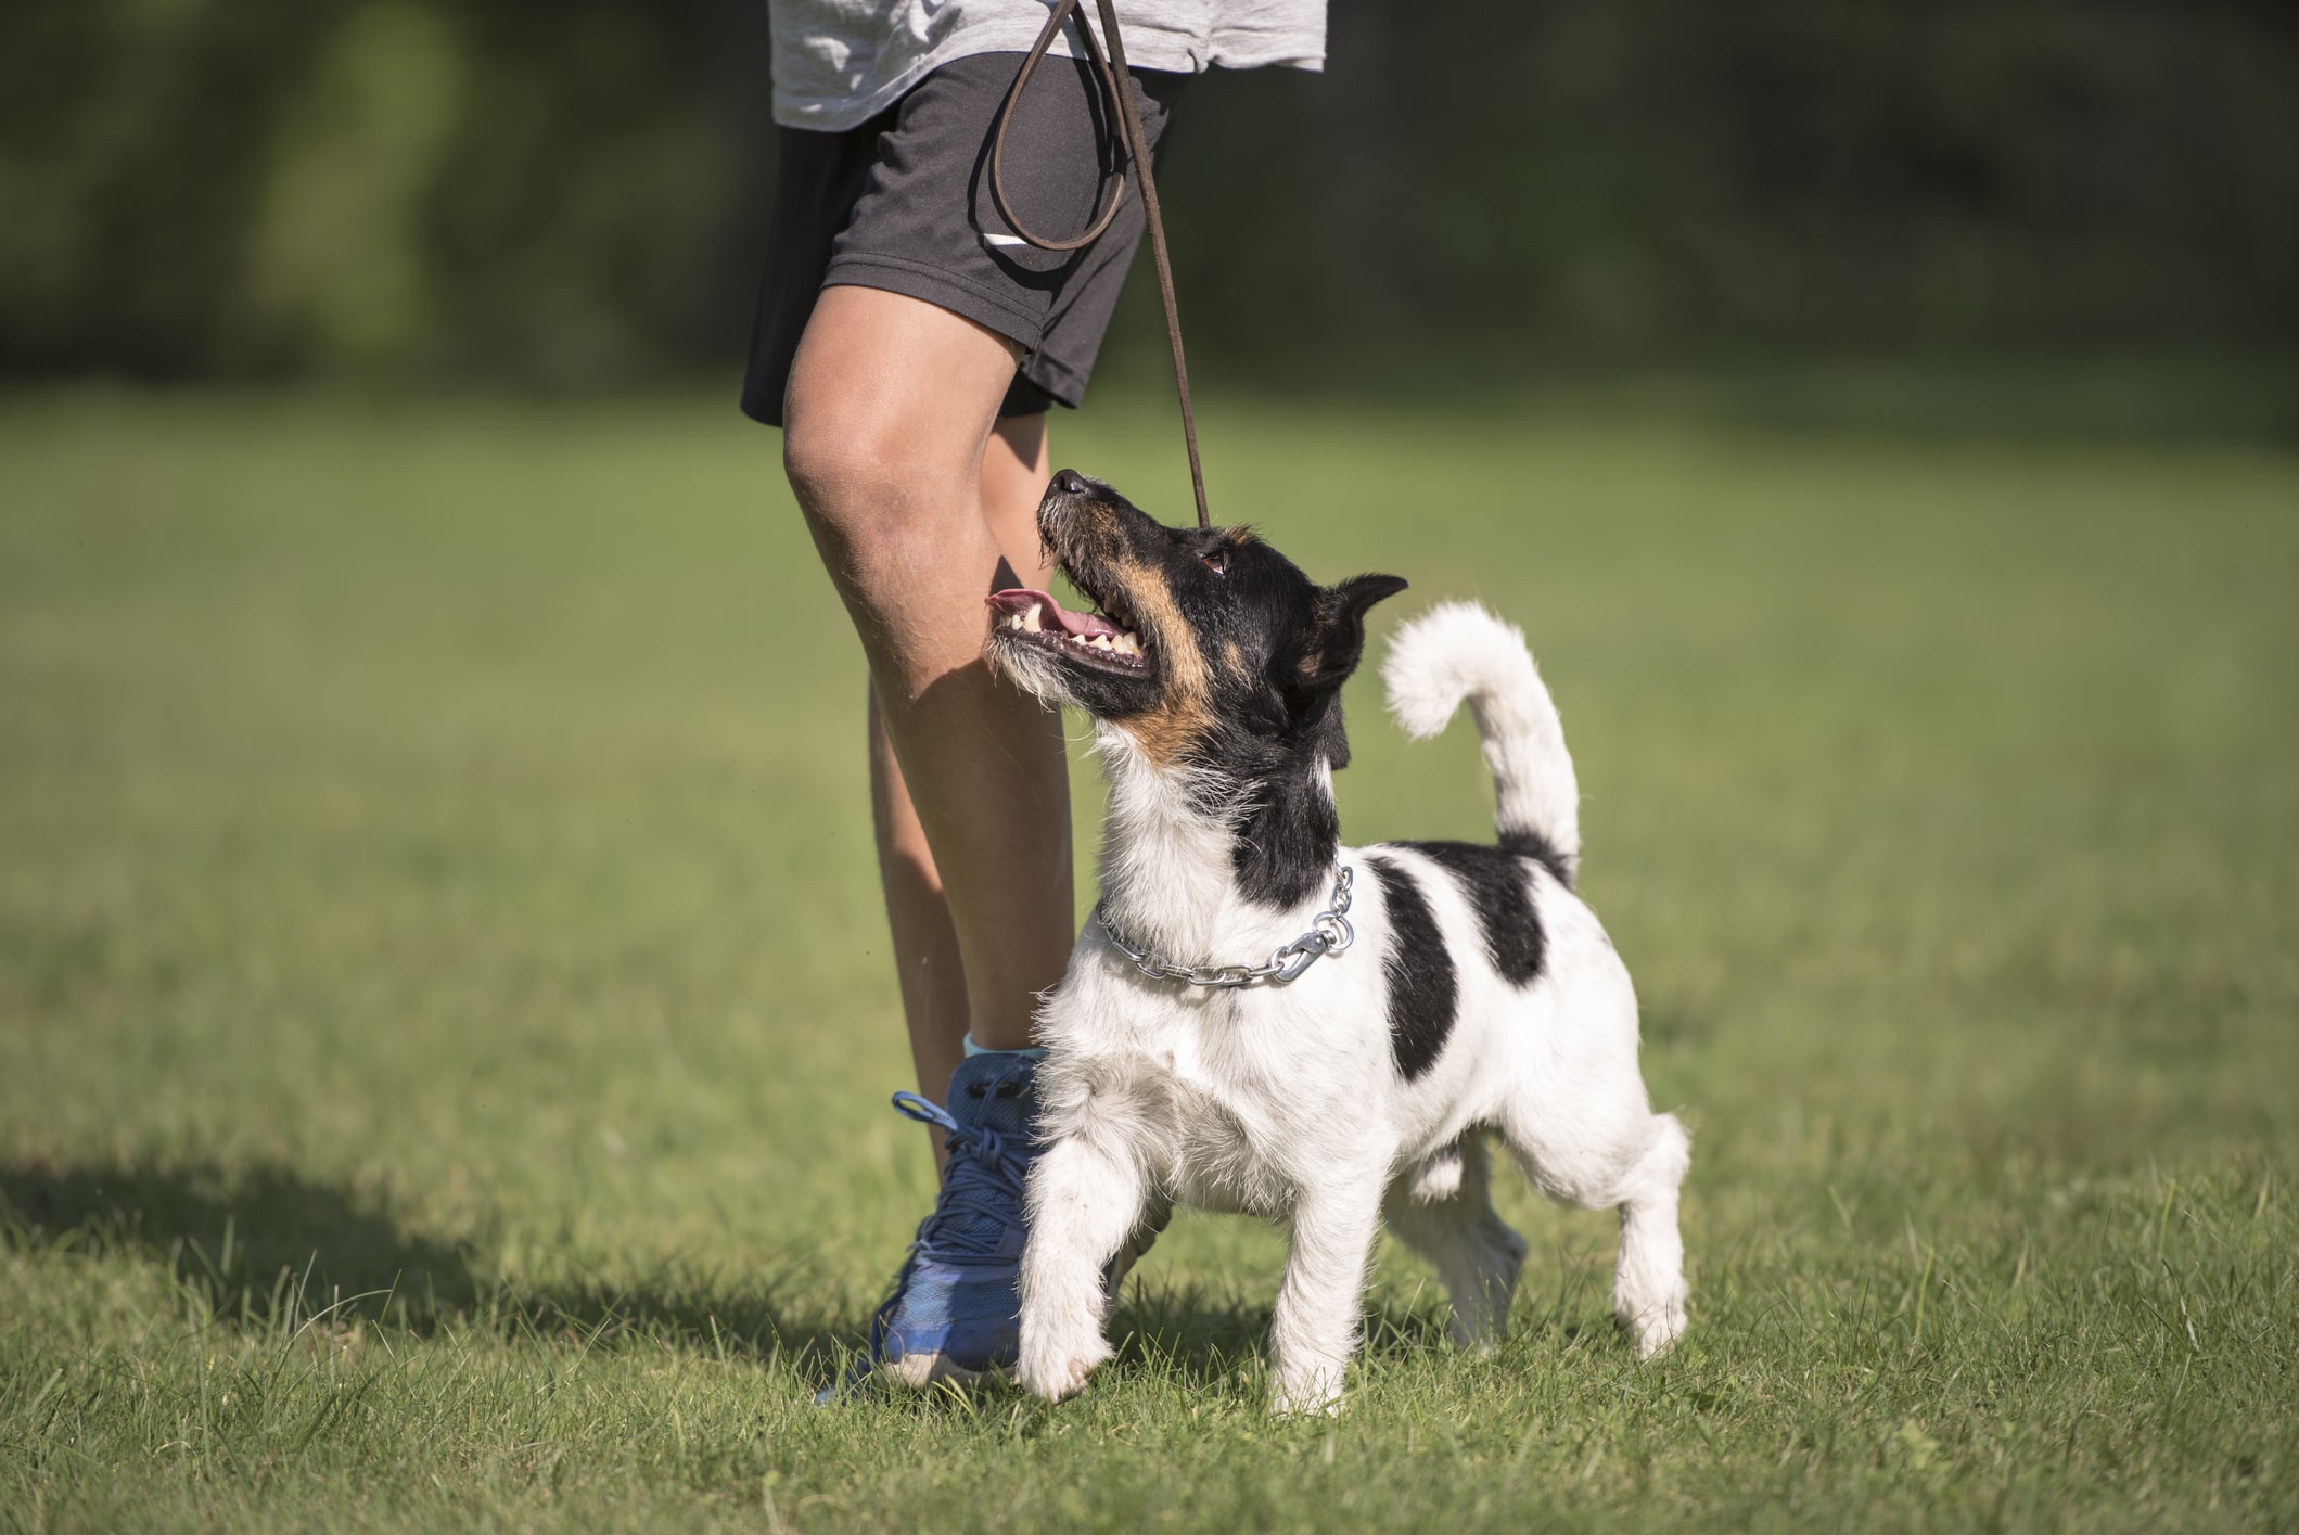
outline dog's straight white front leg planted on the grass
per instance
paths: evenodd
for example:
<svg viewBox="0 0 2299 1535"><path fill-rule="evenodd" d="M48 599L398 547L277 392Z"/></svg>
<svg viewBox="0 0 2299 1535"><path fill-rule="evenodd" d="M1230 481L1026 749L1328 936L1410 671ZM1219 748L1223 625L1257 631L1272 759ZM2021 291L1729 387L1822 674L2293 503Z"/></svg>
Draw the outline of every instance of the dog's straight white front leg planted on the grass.
<svg viewBox="0 0 2299 1535"><path fill-rule="evenodd" d="M1382 1220L1382 1174L1336 1174L1294 1202L1292 1252L1269 1328L1276 1365L1269 1406L1278 1413L1338 1413L1343 1374L1356 1351L1366 1257Z"/></svg>

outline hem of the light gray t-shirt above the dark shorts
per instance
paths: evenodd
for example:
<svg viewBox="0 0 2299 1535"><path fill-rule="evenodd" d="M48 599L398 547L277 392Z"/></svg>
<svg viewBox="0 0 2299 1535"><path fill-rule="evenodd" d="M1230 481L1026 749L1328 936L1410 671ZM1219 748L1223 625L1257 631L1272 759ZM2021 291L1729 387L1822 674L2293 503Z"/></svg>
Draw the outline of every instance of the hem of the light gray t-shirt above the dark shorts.
<svg viewBox="0 0 2299 1535"><path fill-rule="evenodd" d="M775 122L835 133L869 122L938 64L1028 53L1046 0L768 0L775 23ZM1094 0L1078 7L1101 34ZM1324 69L1324 0L1117 0L1127 62L1202 74L1290 64ZM1062 28L1053 53L1076 55Z"/></svg>

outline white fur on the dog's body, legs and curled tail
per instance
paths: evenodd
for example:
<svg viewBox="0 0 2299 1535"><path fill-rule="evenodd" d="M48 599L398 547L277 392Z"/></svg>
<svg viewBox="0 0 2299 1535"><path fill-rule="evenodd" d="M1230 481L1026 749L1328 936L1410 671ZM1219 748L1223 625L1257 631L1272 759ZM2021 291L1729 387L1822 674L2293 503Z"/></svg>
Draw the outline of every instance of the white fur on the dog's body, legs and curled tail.
<svg viewBox="0 0 2299 1535"><path fill-rule="evenodd" d="M1391 708L1418 735L1467 699L1501 827L1577 855L1573 763L1513 627L1441 607L1398 637L1386 671ZM1110 777L1101 887L1133 942L1179 961L1255 963L1308 928L1329 887L1290 912L1244 901L1228 816L1191 793L1202 784L1156 770L1122 726L1097 731ZM1414 1082L1391 1059L1382 961L1395 938L1368 855L1414 876L1453 958L1453 1029ZM1439 864L1402 846L1343 848L1340 859L1354 869L1356 944L1292 986L1150 981L1099 926L1078 938L1039 1016L1048 1147L1028 1190L1018 1374L1041 1397L1076 1393L1108 1358L1110 1275L1175 1202L1290 1225L1271 1328L1276 1411L1338 1409L1384 1213L1437 1266L1453 1335L1490 1347L1524 1241L1487 1202L1487 1135L1543 1193L1621 1209L1614 1308L1637 1351L1653 1356L1683 1333L1676 1188L1687 1140L1646 1101L1635 988L1596 915L1527 862L1547 951L1520 988L1492 970L1478 915Z"/></svg>

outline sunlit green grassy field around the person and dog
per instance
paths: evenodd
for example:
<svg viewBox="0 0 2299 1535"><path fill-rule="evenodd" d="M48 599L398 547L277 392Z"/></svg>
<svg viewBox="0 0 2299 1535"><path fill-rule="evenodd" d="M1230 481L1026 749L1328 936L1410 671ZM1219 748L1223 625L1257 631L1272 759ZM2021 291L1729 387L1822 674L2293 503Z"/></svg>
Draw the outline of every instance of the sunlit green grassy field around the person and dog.
<svg viewBox="0 0 2299 1535"><path fill-rule="evenodd" d="M1384 1248L1336 1422L1186 1216L1083 1399L809 1406L931 1170L772 434L16 400L0 1528L2292 1528L2299 457L1207 418L1384 630L1533 637L1697 1137L1674 1358L1506 1179L1508 1347ZM1184 515L1163 411L1058 460ZM1483 834L1464 726L1352 719L1354 841Z"/></svg>

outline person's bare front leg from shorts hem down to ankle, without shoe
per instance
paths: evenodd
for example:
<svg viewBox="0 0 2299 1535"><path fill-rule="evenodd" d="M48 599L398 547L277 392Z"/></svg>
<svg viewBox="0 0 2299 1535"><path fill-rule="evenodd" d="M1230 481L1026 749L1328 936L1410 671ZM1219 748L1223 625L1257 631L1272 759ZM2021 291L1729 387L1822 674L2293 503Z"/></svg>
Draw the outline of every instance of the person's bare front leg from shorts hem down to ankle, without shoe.
<svg viewBox="0 0 2299 1535"><path fill-rule="evenodd" d="M1030 1043L1037 993L1071 942L1069 777L1060 717L998 682L982 659L982 597L1014 526L1012 476L989 453L1014 377L1012 342L938 306L871 287L823 290L791 368L784 464L869 657L892 774L881 825L904 839L901 800L931 857L890 880L897 931L924 938L920 1013L947 1059L952 1018L933 993L943 894L963 970L963 1029L993 1050ZM1032 469L1041 453L1030 453ZM993 529L986 469L1002 506ZM1030 499L1035 508L1035 492ZM899 885L899 894L897 894ZM924 912L915 926L908 915ZM904 965L908 970L908 961ZM910 988L906 986L906 993ZM913 1016L913 1041L917 1020ZM922 1082L938 1087L920 1050Z"/></svg>

